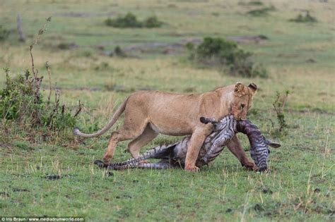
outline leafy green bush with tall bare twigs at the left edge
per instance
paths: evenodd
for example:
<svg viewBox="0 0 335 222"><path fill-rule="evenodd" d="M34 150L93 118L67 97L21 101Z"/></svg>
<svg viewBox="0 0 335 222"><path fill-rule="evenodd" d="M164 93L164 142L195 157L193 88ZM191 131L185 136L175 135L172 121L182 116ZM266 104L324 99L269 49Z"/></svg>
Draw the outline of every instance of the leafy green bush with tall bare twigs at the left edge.
<svg viewBox="0 0 335 222"><path fill-rule="evenodd" d="M47 22L49 22L48 18ZM46 23L47 24L47 23ZM38 35L45 32L45 27L39 31ZM40 92L43 77L37 75L33 59L33 46L37 44L37 39L30 45L30 56L32 64L32 73L25 70L24 74L19 73L14 78L9 76L9 69L5 68L6 82L4 89L0 90L0 118L12 123L23 125L25 131L30 132L29 129L47 129L47 131L59 131L69 128L74 128L76 123L76 116L81 111L81 104L75 114L66 109L65 105L59 104L60 91L55 90L54 102L50 101L51 97L51 83L49 85L50 91L47 100L44 100ZM50 68L48 63L45 63L47 72L50 78ZM51 80L50 80L51 82Z"/></svg>

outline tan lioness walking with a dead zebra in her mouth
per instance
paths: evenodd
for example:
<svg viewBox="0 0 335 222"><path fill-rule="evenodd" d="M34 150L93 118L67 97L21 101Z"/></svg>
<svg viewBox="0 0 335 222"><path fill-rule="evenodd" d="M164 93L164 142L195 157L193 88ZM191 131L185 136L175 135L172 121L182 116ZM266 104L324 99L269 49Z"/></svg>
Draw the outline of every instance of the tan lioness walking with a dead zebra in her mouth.
<svg viewBox="0 0 335 222"><path fill-rule="evenodd" d="M212 125L199 122L201 116L222 118L232 113L237 120L247 119L247 111L257 86L251 83L248 87L237 82L235 85L220 87L203 94L172 94L159 91L139 91L131 94L119 106L107 125L93 134L74 129L74 134L82 137L97 137L114 125L124 113L124 125L112 132L107 151L103 156L108 162L114 156L117 143L132 140L128 144L131 156L137 158L141 147L148 144L159 133L165 135L192 135L185 160L186 171L198 171L196 158L199 149L213 130ZM247 159L240 141L235 135L227 144L230 152L240 160L242 166L253 168L254 164Z"/></svg>

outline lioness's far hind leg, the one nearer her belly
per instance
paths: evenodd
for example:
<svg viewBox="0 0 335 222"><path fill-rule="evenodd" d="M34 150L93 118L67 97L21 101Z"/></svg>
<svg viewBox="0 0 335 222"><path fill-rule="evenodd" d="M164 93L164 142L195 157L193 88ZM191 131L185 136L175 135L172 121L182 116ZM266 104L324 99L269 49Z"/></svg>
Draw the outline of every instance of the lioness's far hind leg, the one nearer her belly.
<svg viewBox="0 0 335 222"><path fill-rule="evenodd" d="M151 142L151 140L155 139L155 137L158 136L158 132L155 132L150 125L146 125L146 129L142 132L139 137L136 137L135 140L132 140L128 144L128 149L134 158L137 158L139 156L139 152L141 150L141 147L148 144L148 142Z"/></svg>

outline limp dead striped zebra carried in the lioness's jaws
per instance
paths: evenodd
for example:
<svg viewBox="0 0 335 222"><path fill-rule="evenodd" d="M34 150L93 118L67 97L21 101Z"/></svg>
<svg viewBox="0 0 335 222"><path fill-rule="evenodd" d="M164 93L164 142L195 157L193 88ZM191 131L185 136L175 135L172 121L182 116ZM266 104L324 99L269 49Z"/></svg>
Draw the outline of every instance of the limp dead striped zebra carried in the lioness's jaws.
<svg viewBox="0 0 335 222"><path fill-rule="evenodd" d="M257 126L250 121L236 121L233 115L225 116L220 121L216 121L213 118L201 117L200 121L204 124L213 124L213 132L206 137L204 144L201 146L198 159L196 159L196 166L199 168L216 159L216 156L223 151L225 144L227 144L237 132L247 134L251 145L250 154L257 165L258 171L265 171L267 169L267 159L269 158L268 145L271 147L281 146L280 144L267 140L261 135ZM182 138L179 142L154 147L136 159L131 158L124 162L111 164L97 160L94 163L100 167L112 170L122 170L126 168L184 168L190 138L190 136L187 136ZM160 161L157 163L143 163L146 159L160 159Z"/></svg>

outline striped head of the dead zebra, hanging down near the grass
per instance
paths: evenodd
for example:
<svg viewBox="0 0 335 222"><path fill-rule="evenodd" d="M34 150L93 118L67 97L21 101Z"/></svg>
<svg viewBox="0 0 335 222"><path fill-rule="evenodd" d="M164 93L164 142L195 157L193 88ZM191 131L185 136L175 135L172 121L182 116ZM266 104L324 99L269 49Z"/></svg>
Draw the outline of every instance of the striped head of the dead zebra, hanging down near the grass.
<svg viewBox="0 0 335 222"><path fill-rule="evenodd" d="M270 154L270 147L278 148L281 147L281 144L271 142L267 140L264 136L261 136L257 142L254 143L254 146L250 150L250 155L254 160L254 163L257 165L258 171L266 171L268 168L268 159Z"/></svg>

